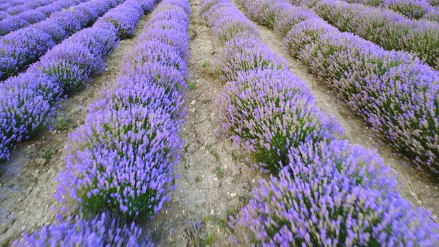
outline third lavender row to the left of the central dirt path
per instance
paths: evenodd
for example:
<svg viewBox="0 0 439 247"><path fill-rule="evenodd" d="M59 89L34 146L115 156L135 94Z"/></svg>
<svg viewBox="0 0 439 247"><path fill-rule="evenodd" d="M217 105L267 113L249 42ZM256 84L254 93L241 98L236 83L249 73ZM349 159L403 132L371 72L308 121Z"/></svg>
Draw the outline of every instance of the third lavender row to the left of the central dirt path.
<svg viewBox="0 0 439 247"><path fill-rule="evenodd" d="M36 62L62 40L94 23L99 16L125 0L91 0L72 11L57 12L51 18L0 38L0 78L5 80Z"/></svg>

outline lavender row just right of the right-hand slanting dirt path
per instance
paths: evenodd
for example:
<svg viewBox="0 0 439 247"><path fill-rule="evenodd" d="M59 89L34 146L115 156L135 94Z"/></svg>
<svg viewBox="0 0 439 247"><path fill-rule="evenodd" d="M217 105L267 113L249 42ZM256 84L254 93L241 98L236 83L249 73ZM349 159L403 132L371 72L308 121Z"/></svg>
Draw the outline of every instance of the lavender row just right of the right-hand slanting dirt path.
<svg viewBox="0 0 439 247"><path fill-rule="evenodd" d="M312 10L266 2L244 3L255 20L284 36L292 54L308 64L311 73L331 86L379 136L436 176L439 73L412 54L386 51L340 32Z"/></svg>

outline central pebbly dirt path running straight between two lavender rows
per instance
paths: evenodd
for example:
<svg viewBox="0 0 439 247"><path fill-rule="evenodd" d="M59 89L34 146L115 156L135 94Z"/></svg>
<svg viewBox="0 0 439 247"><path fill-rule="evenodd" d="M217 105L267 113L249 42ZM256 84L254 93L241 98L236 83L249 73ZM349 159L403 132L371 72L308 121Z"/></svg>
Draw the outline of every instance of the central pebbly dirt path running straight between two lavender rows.
<svg viewBox="0 0 439 247"><path fill-rule="evenodd" d="M147 224L158 246L235 246L228 215L242 207L261 179L249 172L228 139L217 137L219 77L211 74L214 56L211 30L200 18L200 0L191 0L189 24L191 78L181 137L185 140L180 174L168 211Z"/></svg>

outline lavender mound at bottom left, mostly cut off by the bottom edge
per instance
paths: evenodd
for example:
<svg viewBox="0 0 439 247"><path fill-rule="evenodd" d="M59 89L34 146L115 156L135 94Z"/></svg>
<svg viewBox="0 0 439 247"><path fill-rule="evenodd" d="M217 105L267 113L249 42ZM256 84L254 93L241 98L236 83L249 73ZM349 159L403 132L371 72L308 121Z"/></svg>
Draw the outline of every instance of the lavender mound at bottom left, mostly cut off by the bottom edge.
<svg viewBox="0 0 439 247"><path fill-rule="evenodd" d="M19 247L43 246L154 246L145 238L142 228L133 224L123 224L108 213L97 215L93 220L76 216L58 224L43 226L40 231L24 234L12 245Z"/></svg>

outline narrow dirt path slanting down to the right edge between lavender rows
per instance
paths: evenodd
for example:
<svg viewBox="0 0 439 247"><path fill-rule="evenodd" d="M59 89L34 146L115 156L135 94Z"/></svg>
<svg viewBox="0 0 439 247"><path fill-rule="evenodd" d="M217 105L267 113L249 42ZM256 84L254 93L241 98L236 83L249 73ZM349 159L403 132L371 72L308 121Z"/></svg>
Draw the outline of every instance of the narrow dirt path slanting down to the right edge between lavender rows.
<svg viewBox="0 0 439 247"><path fill-rule="evenodd" d="M233 3L246 14L244 8ZM398 174L398 190L410 202L429 209L434 215L439 215L439 185L428 178L425 171L418 170L407 158L401 156L394 148L385 145L381 139L375 137L374 132L351 108L346 106L331 88L309 73L309 68L300 60L293 58L287 47L283 45L283 38L268 27L254 25L262 38L263 43L271 47L276 54L283 56L289 62L289 70L306 82L316 97L316 105L334 115L344 128L342 139L352 144L359 144L366 148L377 149L385 164L390 165Z"/></svg>

